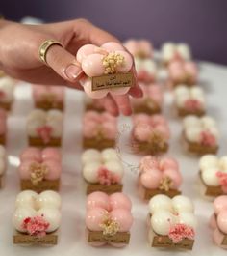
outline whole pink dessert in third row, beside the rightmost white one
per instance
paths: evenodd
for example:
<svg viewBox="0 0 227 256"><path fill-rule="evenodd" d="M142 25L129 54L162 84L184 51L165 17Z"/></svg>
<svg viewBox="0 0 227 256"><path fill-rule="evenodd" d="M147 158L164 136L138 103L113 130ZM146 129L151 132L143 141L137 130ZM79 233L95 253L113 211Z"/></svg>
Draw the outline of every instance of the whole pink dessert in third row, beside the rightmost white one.
<svg viewBox="0 0 227 256"><path fill-rule="evenodd" d="M170 130L162 115L137 114L133 117L132 149L157 155L168 150Z"/></svg>

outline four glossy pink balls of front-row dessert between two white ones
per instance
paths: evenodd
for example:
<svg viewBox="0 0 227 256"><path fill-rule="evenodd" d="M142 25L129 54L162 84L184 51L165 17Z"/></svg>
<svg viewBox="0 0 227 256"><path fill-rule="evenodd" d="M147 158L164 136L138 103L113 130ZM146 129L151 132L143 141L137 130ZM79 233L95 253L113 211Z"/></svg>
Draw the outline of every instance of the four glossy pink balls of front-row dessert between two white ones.
<svg viewBox="0 0 227 256"><path fill-rule="evenodd" d="M88 195L86 226L88 230L105 232L105 221L113 222L115 232L127 232L133 224L131 201L122 193L110 196L103 192ZM113 231L113 230L112 230Z"/></svg>

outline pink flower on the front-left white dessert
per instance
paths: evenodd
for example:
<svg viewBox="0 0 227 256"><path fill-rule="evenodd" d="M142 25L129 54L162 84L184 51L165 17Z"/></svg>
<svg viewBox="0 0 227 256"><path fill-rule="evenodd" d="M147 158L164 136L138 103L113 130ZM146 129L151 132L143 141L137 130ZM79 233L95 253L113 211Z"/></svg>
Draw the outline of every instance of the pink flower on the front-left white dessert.
<svg viewBox="0 0 227 256"><path fill-rule="evenodd" d="M31 236L44 237L49 225L50 223L48 223L43 218L43 215L41 215L25 218L21 226L22 229L25 229Z"/></svg>

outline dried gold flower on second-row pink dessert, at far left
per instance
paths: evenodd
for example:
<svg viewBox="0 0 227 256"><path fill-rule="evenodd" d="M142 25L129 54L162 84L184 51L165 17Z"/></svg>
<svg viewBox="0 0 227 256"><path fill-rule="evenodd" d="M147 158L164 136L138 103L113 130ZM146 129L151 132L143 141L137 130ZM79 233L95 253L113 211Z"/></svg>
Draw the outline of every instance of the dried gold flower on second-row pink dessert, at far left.
<svg viewBox="0 0 227 256"><path fill-rule="evenodd" d="M49 172L46 165L34 162L30 165L30 180L33 185L38 185L44 180L45 175Z"/></svg>

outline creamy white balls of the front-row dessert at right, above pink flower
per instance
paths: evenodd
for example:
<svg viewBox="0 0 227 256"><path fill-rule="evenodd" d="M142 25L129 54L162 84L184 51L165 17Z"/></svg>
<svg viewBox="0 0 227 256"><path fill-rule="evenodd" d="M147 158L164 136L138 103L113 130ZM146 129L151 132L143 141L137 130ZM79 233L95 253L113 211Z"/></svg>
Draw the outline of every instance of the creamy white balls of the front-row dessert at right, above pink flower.
<svg viewBox="0 0 227 256"><path fill-rule="evenodd" d="M193 204L186 196L179 195L170 199L165 195L156 195L149 202L149 210L151 228L159 235L168 235L170 227L177 223L196 228Z"/></svg>

